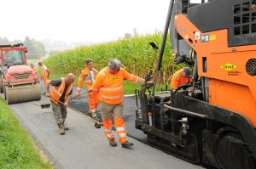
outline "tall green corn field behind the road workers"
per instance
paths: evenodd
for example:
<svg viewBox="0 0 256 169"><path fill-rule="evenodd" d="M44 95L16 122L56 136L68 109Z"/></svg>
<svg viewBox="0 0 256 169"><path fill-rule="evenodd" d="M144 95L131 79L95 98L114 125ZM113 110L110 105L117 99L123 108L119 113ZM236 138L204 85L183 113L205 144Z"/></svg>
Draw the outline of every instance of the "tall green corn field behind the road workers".
<svg viewBox="0 0 256 169"><path fill-rule="evenodd" d="M106 42L88 47L76 48L54 54L44 60L51 73L67 74L73 72L79 74L84 69L86 59L93 59L97 70L108 65L110 59L119 59L125 70L138 76L145 76L146 71L155 70L154 48L149 42L161 44L163 33L155 32L152 35L120 39L116 42ZM165 53L162 61L159 82L169 84L172 74L181 69L182 65L174 65L170 38L167 38ZM158 57L158 55L157 55ZM154 73L153 73L154 75Z"/></svg>

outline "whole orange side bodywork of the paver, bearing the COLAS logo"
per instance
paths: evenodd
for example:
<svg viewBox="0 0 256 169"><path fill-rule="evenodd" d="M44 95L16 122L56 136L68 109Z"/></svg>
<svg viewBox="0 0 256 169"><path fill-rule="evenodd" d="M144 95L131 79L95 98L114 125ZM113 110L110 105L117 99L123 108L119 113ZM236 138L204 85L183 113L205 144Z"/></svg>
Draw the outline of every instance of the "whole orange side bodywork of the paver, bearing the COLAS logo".
<svg viewBox="0 0 256 169"><path fill-rule="evenodd" d="M256 76L246 71L248 59L256 59L256 45L228 47L228 31L202 33L183 14L175 16L175 27L198 56L199 76L210 79L209 103L233 110L247 117L256 127ZM208 42L201 42L208 35ZM207 58L207 72L202 58Z"/></svg>

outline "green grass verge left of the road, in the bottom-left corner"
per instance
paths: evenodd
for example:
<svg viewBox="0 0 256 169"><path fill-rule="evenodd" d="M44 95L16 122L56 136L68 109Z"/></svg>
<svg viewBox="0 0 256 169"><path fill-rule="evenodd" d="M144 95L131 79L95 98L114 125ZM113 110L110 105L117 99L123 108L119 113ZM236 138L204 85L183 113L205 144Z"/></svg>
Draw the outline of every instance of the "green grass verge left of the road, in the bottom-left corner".
<svg viewBox="0 0 256 169"><path fill-rule="evenodd" d="M0 168L52 168L49 162L41 159L32 138L20 127L3 99L0 99Z"/></svg>

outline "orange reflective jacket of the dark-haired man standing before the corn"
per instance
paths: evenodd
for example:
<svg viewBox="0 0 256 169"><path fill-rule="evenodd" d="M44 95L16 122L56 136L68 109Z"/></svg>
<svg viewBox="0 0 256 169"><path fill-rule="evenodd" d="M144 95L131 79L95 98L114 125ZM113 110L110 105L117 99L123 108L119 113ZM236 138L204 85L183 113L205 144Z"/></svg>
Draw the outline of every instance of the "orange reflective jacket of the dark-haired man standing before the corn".
<svg viewBox="0 0 256 169"><path fill-rule="evenodd" d="M94 78L96 78L97 73L94 73ZM80 90L83 84L83 81L85 81L85 87L87 89L90 89L92 86L92 82L95 81L95 79L92 79L92 76L90 75L90 70L86 67L82 72L80 73L79 76L79 82L78 82L78 87L77 89Z"/></svg>

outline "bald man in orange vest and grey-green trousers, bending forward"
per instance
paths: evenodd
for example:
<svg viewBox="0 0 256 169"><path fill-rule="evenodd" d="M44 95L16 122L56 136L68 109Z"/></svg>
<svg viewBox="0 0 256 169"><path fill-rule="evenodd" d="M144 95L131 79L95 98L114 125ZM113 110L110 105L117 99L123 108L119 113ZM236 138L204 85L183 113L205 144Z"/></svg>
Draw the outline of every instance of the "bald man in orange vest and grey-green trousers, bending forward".
<svg viewBox="0 0 256 169"><path fill-rule="evenodd" d="M69 73L67 77L53 79L46 82L46 96L50 98L51 107L55 117L55 122L59 127L61 135L65 134L68 127L65 127L64 122L67 119L67 105L71 94L73 93L73 82L75 76ZM49 85L53 86L49 93Z"/></svg>

